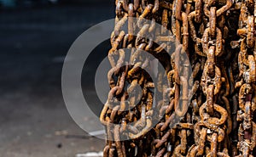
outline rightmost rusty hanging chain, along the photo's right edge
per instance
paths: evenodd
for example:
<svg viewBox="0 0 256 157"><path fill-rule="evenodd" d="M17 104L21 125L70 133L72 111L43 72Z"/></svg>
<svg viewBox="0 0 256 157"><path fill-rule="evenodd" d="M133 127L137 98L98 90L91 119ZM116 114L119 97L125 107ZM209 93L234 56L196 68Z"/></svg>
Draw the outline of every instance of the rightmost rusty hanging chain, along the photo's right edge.
<svg viewBox="0 0 256 157"><path fill-rule="evenodd" d="M252 112L254 108L252 107L252 94L255 93L255 89L253 89L255 87L255 56L251 55L252 50L250 48L255 49L255 23L253 22L255 14L249 11L249 3L247 1L241 4L240 25L237 30L237 35L241 37L241 51L238 58L241 81L236 82L236 87L240 87L238 98L240 110L237 111L237 121L240 122L237 143L239 153L237 156L251 157L255 148L255 137L253 137L255 134L253 115L255 114Z"/></svg>

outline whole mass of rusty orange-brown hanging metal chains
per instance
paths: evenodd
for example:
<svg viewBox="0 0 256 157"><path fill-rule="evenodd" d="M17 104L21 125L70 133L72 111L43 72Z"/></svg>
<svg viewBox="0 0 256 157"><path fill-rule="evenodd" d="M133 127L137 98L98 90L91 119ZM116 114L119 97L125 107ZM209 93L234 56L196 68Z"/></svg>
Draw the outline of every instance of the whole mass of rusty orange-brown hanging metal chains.
<svg viewBox="0 0 256 157"><path fill-rule="evenodd" d="M104 157L253 157L256 1L116 0L115 4L108 52L111 89L100 115L108 136ZM138 19L136 25L129 17ZM144 24L143 19L152 23ZM155 30L155 24L171 33ZM142 51L165 68L157 74L157 82L143 70L152 68L152 59L141 59ZM126 56L131 56L130 63L121 66ZM175 64L179 60L183 67ZM137 85L142 88L139 94L134 93ZM154 100L155 94L159 100Z"/></svg>

